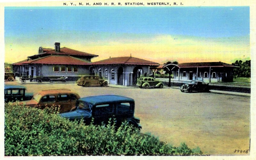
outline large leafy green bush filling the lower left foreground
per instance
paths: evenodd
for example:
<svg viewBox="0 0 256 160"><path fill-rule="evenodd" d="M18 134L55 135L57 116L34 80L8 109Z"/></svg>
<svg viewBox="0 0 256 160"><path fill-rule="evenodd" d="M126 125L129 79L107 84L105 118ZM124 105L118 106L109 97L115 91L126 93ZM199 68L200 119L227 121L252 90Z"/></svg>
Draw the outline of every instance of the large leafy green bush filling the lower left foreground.
<svg viewBox="0 0 256 160"><path fill-rule="evenodd" d="M56 113L56 109L5 104L5 156L202 155L185 143L176 148L142 136L125 122L119 128L111 122L84 125Z"/></svg>

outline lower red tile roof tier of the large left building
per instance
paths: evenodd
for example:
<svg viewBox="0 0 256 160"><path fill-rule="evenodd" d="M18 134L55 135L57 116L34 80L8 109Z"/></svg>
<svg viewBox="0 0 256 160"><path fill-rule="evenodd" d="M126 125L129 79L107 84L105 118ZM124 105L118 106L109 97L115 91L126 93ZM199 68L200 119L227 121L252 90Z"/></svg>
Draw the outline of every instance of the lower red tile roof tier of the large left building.
<svg viewBox="0 0 256 160"><path fill-rule="evenodd" d="M72 56L65 56L65 55L49 55L46 57L38 58L35 60L29 60L29 61L22 61L18 62L19 64L17 65L22 65L22 64L76 64L76 65L88 65L91 64L92 62L82 60L79 58L75 58ZM16 64L16 63L14 63Z"/></svg>

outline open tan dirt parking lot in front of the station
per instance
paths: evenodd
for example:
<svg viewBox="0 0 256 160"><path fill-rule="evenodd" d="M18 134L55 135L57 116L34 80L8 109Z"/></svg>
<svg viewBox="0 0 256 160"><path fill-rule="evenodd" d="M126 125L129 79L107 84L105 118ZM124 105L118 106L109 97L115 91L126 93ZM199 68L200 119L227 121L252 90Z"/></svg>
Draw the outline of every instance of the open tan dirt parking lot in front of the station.
<svg viewBox="0 0 256 160"><path fill-rule="evenodd" d="M81 97L106 94L130 97L135 100L135 117L140 118L142 133L174 146L185 142L188 147L199 147L210 155L249 154L234 151L249 149L250 97L182 93L170 88L81 87L75 83L22 85L28 92L70 89Z"/></svg>

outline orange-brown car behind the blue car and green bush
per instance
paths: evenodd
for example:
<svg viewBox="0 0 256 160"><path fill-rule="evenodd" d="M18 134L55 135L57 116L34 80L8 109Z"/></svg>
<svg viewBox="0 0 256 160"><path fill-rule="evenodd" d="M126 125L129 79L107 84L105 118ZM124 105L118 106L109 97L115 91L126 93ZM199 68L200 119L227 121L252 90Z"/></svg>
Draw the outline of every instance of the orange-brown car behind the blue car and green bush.
<svg viewBox="0 0 256 160"><path fill-rule="evenodd" d="M77 93L70 90L44 90L35 93L31 100L22 101L20 104L40 109L44 109L46 106L60 106L60 113L64 113L69 112L76 105L76 100L79 98L80 96Z"/></svg>

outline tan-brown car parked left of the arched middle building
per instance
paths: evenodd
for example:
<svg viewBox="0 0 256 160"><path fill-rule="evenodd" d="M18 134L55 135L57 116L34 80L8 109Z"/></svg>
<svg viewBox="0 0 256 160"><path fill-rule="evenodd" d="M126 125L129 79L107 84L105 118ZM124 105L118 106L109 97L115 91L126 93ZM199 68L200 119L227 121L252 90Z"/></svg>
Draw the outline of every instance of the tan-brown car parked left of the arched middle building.
<svg viewBox="0 0 256 160"><path fill-rule="evenodd" d="M95 86L108 86L108 82L102 78L102 76L81 76L77 80L77 85L89 87L91 85Z"/></svg>

